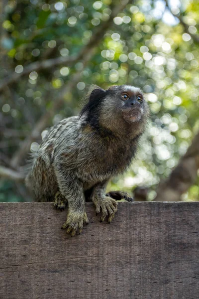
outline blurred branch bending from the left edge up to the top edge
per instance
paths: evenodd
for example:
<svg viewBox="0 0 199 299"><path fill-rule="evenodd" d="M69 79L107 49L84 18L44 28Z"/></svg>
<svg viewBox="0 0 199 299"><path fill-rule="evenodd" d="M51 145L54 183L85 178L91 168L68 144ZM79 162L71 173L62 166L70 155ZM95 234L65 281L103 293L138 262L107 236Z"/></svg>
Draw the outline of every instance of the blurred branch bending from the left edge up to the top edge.
<svg viewBox="0 0 199 299"><path fill-rule="evenodd" d="M52 68L54 66L65 65L65 64L67 64L67 66L70 66L70 65L74 65L79 60L82 60L82 59L84 60L85 55L100 43L100 40L103 37L104 31L110 26L113 18L118 14L119 11L121 11L126 6L126 4L128 2L129 2L129 0L122 0L120 4L115 5L115 7L112 8L112 12L109 16L109 19L107 21L103 22L99 26L99 28L96 30L96 32L91 37L88 44L85 47L83 47L83 49L80 51L80 53L78 55L69 56L69 57L60 56L60 57L53 58L53 59L46 59L43 61L32 62L31 64L24 67L23 71L20 74L13 72L13 73L11 73L10 76L5 78L0 84L0 92L6 86L18 81L19 78L30 74L32 71L40 71L40 70Z"/></svg>

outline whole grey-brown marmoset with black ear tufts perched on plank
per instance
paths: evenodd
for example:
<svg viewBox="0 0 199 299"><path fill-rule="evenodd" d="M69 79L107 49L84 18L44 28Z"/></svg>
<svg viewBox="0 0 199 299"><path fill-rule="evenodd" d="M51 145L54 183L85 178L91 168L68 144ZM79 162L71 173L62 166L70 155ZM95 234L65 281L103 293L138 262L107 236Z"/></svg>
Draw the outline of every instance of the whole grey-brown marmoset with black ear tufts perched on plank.
<svg viewBox="0 0 199 299"><path fill-rule="evenodd" d="M105 194L108 180L126 170L137 150L148 119L142 91L118 85L93 87L79 116L53 126L34 154L26 185L36 201L68 204L62 228L74 236L89 223L85 196L90 196L100 221L110 223L117 210L115 199L131 200L124 192ZM114 199L115 198L115 199Z"/></svg>

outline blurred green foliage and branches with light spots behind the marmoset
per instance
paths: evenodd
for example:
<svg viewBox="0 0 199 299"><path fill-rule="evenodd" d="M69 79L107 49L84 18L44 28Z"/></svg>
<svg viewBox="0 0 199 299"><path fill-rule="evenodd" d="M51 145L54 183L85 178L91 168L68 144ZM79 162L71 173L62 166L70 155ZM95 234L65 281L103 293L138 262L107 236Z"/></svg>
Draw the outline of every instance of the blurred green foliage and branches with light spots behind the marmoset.
<svg viewBox="0 0 199 299"><path fill-rule="evenodd" d="M199 200L199 1L1 0L0 201L30 201L26 159L90 84L141 87L151 118L125 175L136 200Z"/></svg>

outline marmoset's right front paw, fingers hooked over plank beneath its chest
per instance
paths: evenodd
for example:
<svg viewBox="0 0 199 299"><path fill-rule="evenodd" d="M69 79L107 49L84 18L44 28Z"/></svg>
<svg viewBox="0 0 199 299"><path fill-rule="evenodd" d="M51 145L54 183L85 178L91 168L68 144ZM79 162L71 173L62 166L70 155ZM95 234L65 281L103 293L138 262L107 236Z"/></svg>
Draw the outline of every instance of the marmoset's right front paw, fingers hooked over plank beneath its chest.
<svg viewBox="0 0 199 299"><path fill-rule="evenodd" d="M105 198L94 203L96 205L96 213L100 213L100 209L102 211L100 222L104 221L105 217L108 216L108 223L110 223L117 211L117 202L113 198L105 196Z"/></svg>

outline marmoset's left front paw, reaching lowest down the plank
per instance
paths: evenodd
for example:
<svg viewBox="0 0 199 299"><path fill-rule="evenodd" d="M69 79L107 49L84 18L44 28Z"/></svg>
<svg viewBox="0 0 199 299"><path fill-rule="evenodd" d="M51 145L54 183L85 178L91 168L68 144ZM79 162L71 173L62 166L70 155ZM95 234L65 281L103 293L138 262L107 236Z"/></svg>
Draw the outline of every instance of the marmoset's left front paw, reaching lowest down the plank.
<svg viewBox="0 0 199 299"><path fill-rule="evenodd" d="M82 233L84 224L89 224L86 212L69 211L67 220L63 224L62 229L66 229L67 234L75 236L76 234Z"/></svg>

